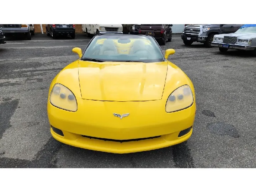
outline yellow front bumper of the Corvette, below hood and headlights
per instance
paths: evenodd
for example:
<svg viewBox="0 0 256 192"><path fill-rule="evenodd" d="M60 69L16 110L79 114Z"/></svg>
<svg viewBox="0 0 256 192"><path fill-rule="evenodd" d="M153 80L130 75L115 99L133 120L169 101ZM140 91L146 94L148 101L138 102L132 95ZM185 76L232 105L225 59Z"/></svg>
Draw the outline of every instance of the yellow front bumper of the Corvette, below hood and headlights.
<svg viewBox="0 0 256 192"><path fill-rule="evenodd" d="M160 104L162 106L161 101L102 102L84 100L79 104L78 111L68 112L54 107L48 102L51 134L56 140L68 145L110 153L134 153L160 149L190 138L196 104L174 113L166 113L165 110L158 109ZM87 107L82 110L82 106ZM138 110L138 107L143 110ZM102 110L95 110L97 108ZM130 112L128 117L120 119L113 116L114 112L127 113L123 109ZM60 129L63 136L54 132L52 127ZM191 129L178 137L182 130L188 128ZM131 139L138 139L138 141L123 141Z"/></svg>

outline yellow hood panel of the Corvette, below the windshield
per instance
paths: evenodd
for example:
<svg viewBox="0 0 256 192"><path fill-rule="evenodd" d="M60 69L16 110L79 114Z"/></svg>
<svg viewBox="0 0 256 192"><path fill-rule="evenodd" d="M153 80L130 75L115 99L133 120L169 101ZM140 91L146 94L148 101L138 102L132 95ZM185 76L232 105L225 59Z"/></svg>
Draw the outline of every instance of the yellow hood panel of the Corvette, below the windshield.
<svg viewBox="0 0 256 192"><path fill-rule="evenodd" d="M161 100L167 62L123 63L79 61L81 96L97 101Z"/></svg>

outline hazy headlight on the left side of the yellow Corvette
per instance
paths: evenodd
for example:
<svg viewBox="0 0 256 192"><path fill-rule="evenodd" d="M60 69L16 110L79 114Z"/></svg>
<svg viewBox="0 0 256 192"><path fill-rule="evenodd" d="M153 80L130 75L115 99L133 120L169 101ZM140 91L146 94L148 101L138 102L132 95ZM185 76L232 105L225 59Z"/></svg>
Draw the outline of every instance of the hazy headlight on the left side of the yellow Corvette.
<svg viewBox="0 0 256 192"><path fill-rule="evenodd" d="M58 108L67 111L77 111L75 95L65 86L55 84L50 92L50 103Z"/></svg>

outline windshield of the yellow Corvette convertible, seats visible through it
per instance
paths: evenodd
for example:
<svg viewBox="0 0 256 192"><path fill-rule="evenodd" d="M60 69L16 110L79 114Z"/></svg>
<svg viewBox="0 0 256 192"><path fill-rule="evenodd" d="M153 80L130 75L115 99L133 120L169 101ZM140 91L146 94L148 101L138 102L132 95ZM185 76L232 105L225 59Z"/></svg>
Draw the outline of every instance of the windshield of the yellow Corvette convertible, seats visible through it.
<svg viewBox="0 0 256 192"><path fill-rule="evenodd" d="M86 48L82 60L95 62L162 62L164 55L150 36L101 35Z"/></svg>

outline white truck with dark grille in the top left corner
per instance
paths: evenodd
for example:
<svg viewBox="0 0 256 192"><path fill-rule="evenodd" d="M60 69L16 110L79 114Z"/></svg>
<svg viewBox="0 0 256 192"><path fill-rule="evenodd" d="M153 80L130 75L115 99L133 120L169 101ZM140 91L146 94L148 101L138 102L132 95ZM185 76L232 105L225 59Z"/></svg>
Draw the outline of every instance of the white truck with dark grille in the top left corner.
<svg viewBox="0 0 256 192"><path fill-rule="evenodd" d="M33 24L1 24L1 28L6 37L22 35L27 40L31 40L31 35L34 35Z"/></svg>

